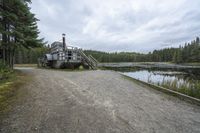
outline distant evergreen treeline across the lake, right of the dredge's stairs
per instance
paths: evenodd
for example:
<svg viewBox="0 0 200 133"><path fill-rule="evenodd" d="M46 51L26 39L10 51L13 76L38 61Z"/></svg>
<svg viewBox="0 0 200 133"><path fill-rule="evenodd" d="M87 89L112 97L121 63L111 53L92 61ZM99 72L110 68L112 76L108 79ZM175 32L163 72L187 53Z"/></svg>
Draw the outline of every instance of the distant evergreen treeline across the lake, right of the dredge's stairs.
<svg viewBox="0 0 200 133"><path fill-rule="evenodd" d="M148 54L135 52L101 52L85 50L87 55L92 55L99 62L174 62L190 63L200 62L200 40L199 37L190 43L185 43L179 48L165 48L154 50Z"/></svg>

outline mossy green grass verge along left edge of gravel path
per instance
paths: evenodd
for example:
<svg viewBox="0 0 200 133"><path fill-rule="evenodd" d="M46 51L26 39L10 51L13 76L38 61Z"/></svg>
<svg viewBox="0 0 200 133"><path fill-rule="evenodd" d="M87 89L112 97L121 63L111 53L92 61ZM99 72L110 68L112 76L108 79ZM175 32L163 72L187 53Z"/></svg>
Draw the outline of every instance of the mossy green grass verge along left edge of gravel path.
<svg viewBox="0 0 200 133"><path fill-rule="evenodd" d="M12 104L19 98L19 89L30 78L20 71L12 72L9 77L0 82L0 114L10 110Z"/></svg>

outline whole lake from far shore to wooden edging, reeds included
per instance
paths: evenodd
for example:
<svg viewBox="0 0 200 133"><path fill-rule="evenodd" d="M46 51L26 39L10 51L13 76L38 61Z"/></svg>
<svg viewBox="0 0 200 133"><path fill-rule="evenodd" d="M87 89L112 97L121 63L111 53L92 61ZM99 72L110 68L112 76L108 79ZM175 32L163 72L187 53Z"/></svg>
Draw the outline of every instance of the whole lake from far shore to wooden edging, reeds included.
<svg viewBox="0 0 200 133"><path fill-rule="evenodd" d="M139 66L140 65L140 66ZM200 99L200 68L176 66L176 67L152 67L150 65L125 65L120 63L104 64L105 69L120 71L122 74L162 86L180 93ZM154 65L155 66L155 65Z"/></svg>

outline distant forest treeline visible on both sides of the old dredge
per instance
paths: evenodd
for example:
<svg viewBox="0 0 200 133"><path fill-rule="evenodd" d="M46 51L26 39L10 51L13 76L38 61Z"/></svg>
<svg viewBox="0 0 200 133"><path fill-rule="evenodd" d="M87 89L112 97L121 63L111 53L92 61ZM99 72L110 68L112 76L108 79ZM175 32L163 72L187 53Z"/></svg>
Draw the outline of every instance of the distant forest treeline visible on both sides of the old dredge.
<svg viewBox="0 0 200 133"><path fill-rule="evenodd" d="M37 59L48 52L48 47L42 48L20 48L16 50L15 63L37 63ZM165 48L154 50L148 54L135 52L101 52L85 50L87 55L92 55L99 62L174 62L190 63L200 62L200 40L197 37L190 43L179 48Z"/></svg>

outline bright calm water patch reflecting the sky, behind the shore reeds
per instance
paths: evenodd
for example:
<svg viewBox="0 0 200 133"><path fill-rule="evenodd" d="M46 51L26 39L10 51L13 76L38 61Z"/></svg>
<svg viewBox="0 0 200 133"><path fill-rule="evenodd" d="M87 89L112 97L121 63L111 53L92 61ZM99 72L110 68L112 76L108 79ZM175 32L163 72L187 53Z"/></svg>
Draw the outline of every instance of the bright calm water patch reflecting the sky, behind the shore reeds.
<svg viewBox="0 0 200 133"><path fill-rule="evenodd" d="M167 84L176 83L176 87L182 85L189 87L189 85L193 84L194 82L199 82L198 78L196 78L195 76L190 76L187 73L178 71L139 70L139 71L124 72L124 75L157 85L166 83Z"/></svg>

